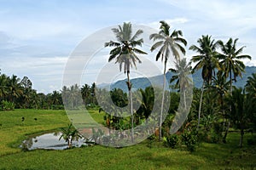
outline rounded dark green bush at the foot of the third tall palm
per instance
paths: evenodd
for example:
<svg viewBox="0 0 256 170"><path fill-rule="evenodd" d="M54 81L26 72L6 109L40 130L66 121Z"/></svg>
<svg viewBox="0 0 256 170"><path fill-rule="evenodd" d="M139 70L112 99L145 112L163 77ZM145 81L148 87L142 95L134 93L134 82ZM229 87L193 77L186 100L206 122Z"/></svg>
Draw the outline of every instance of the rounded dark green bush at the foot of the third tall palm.
<svg viewBox="0 0 256 170"><path fill-rule="evenodd" d="M182 134L182 141L183 144L187 146L187 149L192 152L195 151L195 146L197 144L197 135L190 131L185 131Z"/></svg>

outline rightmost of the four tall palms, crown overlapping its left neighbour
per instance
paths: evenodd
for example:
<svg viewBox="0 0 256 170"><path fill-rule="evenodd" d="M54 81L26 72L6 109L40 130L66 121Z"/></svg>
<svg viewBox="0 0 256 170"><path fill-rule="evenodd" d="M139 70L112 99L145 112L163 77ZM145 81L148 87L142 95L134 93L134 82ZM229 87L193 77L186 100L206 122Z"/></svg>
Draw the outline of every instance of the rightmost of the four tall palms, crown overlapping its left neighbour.
<svg viewBox="0 0 256 170"><path fill-rule="evenodd" d="M232 82L233 80L236 82L236 77L241 77L241 72L244 72L245 65L240 59L251 59L251 56L249 55L240 55L242 53L243 48L245 46L239 48L236 50L236 42L238 41L238 38L235 39L233 42L233 39L230 38L228 42L224 44L224 42L219 41L219 45L221 48L221 51L223 54L220 54L218 57L221 59L220 64L223 66L225 77L230 76L230 95L232 95ZM232 78L232 73L233 77ZM231 107L230 107L231 110ZM231 113L232 111L230 111ZM224 134L224 142L226 139L226 136L228 134L230 128L230 121L228 124L228 127L226 128L226 132Z"/></svg>

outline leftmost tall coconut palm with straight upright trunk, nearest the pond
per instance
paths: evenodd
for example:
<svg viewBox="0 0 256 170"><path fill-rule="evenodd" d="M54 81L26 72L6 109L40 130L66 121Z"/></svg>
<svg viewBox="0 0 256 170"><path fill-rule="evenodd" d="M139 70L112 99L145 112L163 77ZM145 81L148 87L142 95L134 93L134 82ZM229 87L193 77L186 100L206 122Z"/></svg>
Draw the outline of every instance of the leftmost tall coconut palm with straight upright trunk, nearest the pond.
<svg viewBox="0 0 256 170"><path fill-rule="evenodd" d="M131 82L130 82L130 69L136 62L141 63L141 60L137 57L137 54L147 54L142 50L136 48L136 46L143 45L143 38L137 39L143 30L137 30L132 36L131 23L124 23L123 26L112 29L117 42L106 42L105 47L113 47L110 51L108 62L116 59L115 63L119 63L119 71L122 71L124 65L124 72L127 75L127 88L129 91L129 98L131 104L131 142L133 142L134 130L133 130L133 108L132 108L132 94L131 94Z"/></svg>

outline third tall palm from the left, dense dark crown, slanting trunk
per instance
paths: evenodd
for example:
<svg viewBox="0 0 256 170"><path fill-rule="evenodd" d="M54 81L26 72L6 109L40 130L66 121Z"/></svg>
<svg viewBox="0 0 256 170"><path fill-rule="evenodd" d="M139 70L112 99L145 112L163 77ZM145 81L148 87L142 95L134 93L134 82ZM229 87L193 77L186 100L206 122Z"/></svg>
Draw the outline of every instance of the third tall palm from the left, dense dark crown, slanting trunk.
<svg viewBox="0 0 256 170"><path fill-rule="evenodd" d="M200 116L201 116L201 105L202 105L202 97L204 93L205 83L210 85L212 83L212 75L214 74L214 69L219 68L217 52L216 48L218 47L218 42L211 39L211 36L202 36L197 40L199 43L199 47L192 45L189 49L195 51L199 55L195 55L192 57L191 61L195 62L192 72L198 71L201 69L201 77L203 79L202 87L201 87L201 98L200 105L198 111L198 127L200 126Z"/></svg>

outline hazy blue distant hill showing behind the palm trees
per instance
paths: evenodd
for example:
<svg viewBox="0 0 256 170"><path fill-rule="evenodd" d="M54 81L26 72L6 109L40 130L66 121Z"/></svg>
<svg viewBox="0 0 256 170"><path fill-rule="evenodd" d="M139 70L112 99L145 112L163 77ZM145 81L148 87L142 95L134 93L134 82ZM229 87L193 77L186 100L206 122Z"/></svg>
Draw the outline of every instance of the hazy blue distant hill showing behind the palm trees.
<svg viewBox="0 0 256 170"><path fill-rule="evenodd" d="M242 78L237 77L237 80L234 83L234 85L236 87L243 88L246 85L247 77L250 77L250 76L252 76L253 73L256 73L256 66L247 66L245 71L246 72L242 73ZM171 77L172 77L172 72L167 72L166 73L166 81L170 82ZM201 71L196 71L195 74L192 75L192 77L193 77L193 82L194 82L195 88L201 88L201 84L202 84ZM127 81L127 79L120 80L118 82L114 82L114 83L110 84L110 88L111 89L120 88L126 92L127 91L127 86L125 83L126 81ZM149 77L149 78L139 77L139 78L131 79L132 88L134 88L134 89L147 88L148 86L151 85L150 82L159 84L161 87L162 82L163 82L163 75L159 75L156 77ZM109 86L109 84L107 84L107 83L102 83L102 84L97 85L98 88L107 88L108 86Z"/></svg>

